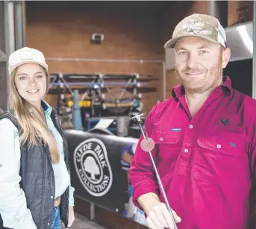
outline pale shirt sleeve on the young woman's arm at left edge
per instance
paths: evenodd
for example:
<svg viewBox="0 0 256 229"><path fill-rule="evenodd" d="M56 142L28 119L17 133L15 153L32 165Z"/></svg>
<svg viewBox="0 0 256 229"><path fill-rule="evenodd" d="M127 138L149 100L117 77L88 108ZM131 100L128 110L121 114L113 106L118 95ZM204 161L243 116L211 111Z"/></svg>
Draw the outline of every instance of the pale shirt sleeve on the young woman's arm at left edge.
<svg viewBox="0 0 256 229"><path fill-rule="evenodd" d="M4 227L37 229L19 186L19 134L9 119L0 121L0 145L0 213Z"/></svg>

